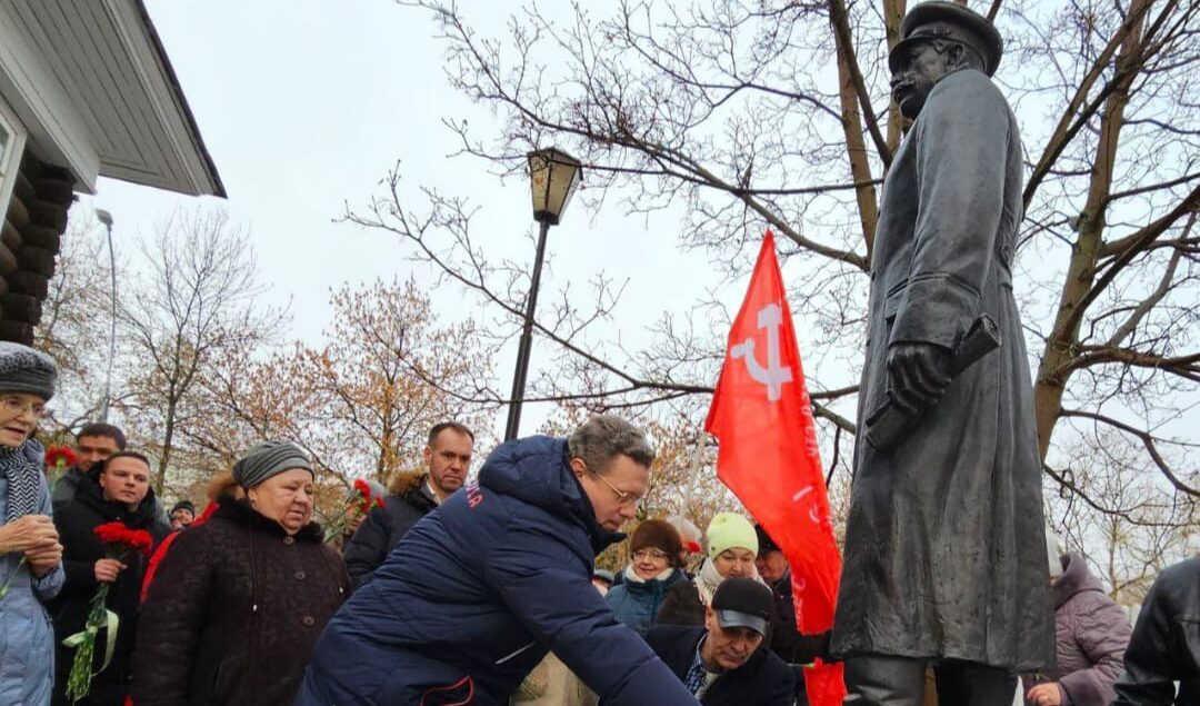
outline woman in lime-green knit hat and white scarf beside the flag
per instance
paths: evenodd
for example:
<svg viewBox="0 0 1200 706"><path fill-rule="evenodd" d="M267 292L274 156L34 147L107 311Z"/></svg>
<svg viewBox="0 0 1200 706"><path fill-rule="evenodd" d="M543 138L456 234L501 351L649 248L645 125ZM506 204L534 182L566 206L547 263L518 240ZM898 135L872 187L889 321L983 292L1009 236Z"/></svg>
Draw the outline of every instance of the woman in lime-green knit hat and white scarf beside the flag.
<svg viewBox="0 0 1200 706"><path fill-rule="evenodd" d="M758 579L754 564L758 556L758 534L750 520L737 513L716 513L704 534L708 558L695 579L676 584L667 593L659 611L660 623L702 626L704 608L712 603L721 581L731 576Z"/></svg>

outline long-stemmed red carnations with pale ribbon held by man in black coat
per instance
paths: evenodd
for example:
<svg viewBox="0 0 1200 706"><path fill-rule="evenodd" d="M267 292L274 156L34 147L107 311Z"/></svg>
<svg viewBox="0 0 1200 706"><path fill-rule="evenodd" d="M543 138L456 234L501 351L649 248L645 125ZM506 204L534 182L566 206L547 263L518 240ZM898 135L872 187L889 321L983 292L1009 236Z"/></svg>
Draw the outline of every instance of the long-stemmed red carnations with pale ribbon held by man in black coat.
<svg viewBox="0 0 1200 706"><path fill-rule="evenodd" d="M154 538L145 530L130 530L122 522L106 522L98 525L94 532L104 545L104 556L113 560L122 560L133 552L150 554ZM82 633L76 633L62 644L74 647L74 659L71 662L71 675L67 676L67 698L72 702L88 695L91 689L91 678L108 668L113 659L113 648L116 647L116 630L119 622L116 614L104 608L108 598L108 590L112 584L102 581L96 587L96 594L91 597L88 609L88 621L84 623ZM100 629L107 629L104 638L104 659L96 671L91 670L96 654L96 636Z"/></svg>

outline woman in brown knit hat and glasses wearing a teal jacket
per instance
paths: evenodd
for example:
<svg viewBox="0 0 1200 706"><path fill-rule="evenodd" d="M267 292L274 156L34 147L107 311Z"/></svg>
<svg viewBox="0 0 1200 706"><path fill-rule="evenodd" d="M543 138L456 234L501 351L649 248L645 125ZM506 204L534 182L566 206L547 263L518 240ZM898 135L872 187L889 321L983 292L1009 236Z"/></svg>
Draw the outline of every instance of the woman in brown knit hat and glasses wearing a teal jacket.
<svg viewBox="0 0 1200 706"><path fill-rule="evenodd" d="M679 532L664 520L646 520L629 538L631 561L607 599L617 620L643 638L654 627L667 591L685 580L678 566L682 550Z"/></svg>

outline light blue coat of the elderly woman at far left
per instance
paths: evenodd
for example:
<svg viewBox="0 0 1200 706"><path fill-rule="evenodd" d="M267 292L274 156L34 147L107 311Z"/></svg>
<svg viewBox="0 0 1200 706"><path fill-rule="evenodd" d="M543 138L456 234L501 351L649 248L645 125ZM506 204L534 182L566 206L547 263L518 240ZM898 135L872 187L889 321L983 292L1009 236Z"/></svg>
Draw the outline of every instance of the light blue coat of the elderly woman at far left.
<svg viewBox="0 0 1200 706"><path fill-rule="evenodd" d="M50 514L50 490L42 474L42 444L28 441L16 451L24 454L41 479L37 489L38 513ZM0 523L8 510L8 481L0 475ZM0 604L0 704L43 706L50 702L54 683L54 629L46 603L62 588L62 564L35 579L20 554L0 556L0 586L8 581L8 593ZM67 665L66 669L70 669Z"/></svg>

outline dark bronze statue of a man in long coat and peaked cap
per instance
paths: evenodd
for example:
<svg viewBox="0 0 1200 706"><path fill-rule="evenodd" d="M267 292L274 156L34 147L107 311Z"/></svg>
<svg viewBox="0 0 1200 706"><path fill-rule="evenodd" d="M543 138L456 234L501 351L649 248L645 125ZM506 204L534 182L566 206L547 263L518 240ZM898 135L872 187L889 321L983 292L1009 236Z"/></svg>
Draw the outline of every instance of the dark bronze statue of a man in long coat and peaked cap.
<svg viewBox="0 0 1200 706"><path fill-rule="evenodd" d="M989 20L932 1L910 10L889 56L893 97L913 124L883 184L871 259L832 646L846 658L847 704L919 704L932 665L943 704L1007 706L1013 675L1054 659L1010 269L1021 142L990 80L1001 50ZM984 339L998 349L966 365L986 346L962 341ZM901 433L872 433L883 411L901 415Z"/></svg>

